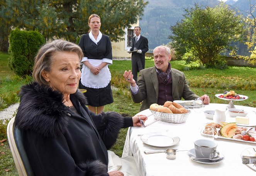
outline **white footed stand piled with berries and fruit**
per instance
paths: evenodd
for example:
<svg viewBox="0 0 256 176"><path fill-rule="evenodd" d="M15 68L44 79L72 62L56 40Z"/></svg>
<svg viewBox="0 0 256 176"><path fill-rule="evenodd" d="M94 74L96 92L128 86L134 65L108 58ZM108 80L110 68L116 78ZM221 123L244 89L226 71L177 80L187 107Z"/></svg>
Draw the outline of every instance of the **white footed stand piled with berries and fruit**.
<svg viewBox="0 0 256 176"><path fill-rule="evenodd" d="M217 98L222 100L229 100L229 104L227 105L227 109L236 108L234 106L233 101L242 101L247 100L249 97L245 95L238 95L235 91L225 91L224 93L216 94Z"/></svg>

